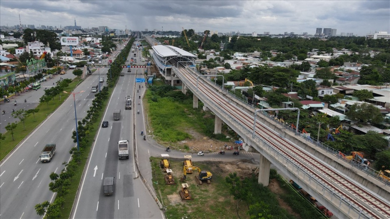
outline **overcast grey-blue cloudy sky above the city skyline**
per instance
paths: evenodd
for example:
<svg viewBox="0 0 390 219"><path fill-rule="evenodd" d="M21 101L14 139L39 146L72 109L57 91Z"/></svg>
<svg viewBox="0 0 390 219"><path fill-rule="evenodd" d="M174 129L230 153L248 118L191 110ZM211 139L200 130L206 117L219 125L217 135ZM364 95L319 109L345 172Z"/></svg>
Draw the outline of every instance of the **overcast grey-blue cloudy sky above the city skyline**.
<svg viewBox="0 0 390 219"><path fill-rule="evenodd" d="M112 29L315 34L335 28L364 36L390 33L390 1L0 1L0 25L108 26Z"/></svg>

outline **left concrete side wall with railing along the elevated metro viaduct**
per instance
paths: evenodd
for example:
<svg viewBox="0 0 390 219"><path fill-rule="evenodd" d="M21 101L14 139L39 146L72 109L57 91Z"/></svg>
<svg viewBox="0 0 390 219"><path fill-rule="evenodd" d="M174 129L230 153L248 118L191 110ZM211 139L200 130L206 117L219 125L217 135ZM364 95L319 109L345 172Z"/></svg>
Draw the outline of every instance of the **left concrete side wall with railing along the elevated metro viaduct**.
<svg viewBox="0 0 390 219"><path fill-rule="evenodd" d="M181 75L181 73L178 71L176 67L173 67L174 71L176 71L176 74ZM211 101L206 95L197 92L197 88L193 86L193 84L188 81L185 77L181 76L180 79L186 83L187 87L193 88L193 93L196 94L198 97L201 96L202 99L209 105L214 107L214 110L218 110L219 106L217 106L214 101ZM264 140L261 136L255 135L255 138L251 138L252 131L248 129L248 127L245 127L241 122L237 121L235 118L231 117L227 112L223 110L218 110L219 113L221 113L229 122L234 124L243 135L246 135L246 137L252 139L255 143L257 143L257 147L262 148L263 150L267 151L269 155L271 155L275 160L280 162L285 168L287 168L292 173L295 173L297 177L300 177L302 180L305 180L307 182L308 186L312 187L316 191L321 191L321 194L326 197L326 199L333 203L333 205L338 206L339 209L348 209L348 212L346 212L346 215L349 215L353 218L371 218L370 215L367 215L366 213L362 212L361 209L356 207L353 203L350 201L347 201L345 198L340 196L339 194L335 193L333 190L331 190L328 186L324 185L321 180L317 179L315 176L311 175L310 173L307 173L301 166L297 165L294 161L286 157L282 152L279 152L276 150L273 146L269 145L269 143ZM355 215L353 215L353 213Z"/></svg>

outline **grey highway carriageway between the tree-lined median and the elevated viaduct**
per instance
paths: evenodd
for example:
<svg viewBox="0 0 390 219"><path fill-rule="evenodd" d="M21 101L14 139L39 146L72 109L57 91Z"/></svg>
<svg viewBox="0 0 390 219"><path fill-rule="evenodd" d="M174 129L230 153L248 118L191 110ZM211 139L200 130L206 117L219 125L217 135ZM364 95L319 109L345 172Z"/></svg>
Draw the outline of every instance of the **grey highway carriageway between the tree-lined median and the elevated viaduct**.
<svg viewBox="0 0 390 219"><path fill-rule="evenodd" d="M137 175L133 153L134 147L142 148L147 144L140 135L145 127L138 98L145 86L139 89L144 84L135 83L136 77L144 77L144 69L132 68L127 72L124 68L122 71L125 75L119 78L103 117L109 125L98 131L71 218L163 218L160 208ZM133 97L131 110L125 109L126 95ZM113 120L116 109L121 109L120 120ZM129 141L129 159L118 158L119 140ZM115 191L111 196L103 194L105 177L115 177Z"/></svg>

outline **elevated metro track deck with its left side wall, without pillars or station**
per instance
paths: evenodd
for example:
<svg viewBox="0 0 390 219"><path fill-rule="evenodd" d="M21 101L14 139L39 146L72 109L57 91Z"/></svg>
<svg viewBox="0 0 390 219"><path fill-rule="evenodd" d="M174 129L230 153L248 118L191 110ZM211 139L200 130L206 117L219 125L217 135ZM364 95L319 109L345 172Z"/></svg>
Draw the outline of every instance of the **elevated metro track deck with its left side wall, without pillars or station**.
<svg viewBox="0 0 390 219"><path fill-rule="evenodd" d="M216 115L220 115L226 124L236 126L232 127L235 131L239 129L247 137L250 136L248 138L252 138L254 111L250 114L240 109L233 104L234 101L223 97L207 79L199 78L200 82L196 87L197 76L200 74L188 71L180 63L173 63L173 66L177 66L173 67L174 72L205 106L215 113L218 112ZM255 138L252 141L257 144L257 150L262 154L268 153L266 157L269 157L271 162L280 162L285 168L295 172L297 177L303 177L302 182L305 182L306 187L321 194L322 197L316 197L317 200L325 199L332 203L333 207L330 207L332 211L339 209L340 213L336 215L390 219L389 200L365 189L321 159L280 137L280 134L258 120L255 127Z"/></svg>

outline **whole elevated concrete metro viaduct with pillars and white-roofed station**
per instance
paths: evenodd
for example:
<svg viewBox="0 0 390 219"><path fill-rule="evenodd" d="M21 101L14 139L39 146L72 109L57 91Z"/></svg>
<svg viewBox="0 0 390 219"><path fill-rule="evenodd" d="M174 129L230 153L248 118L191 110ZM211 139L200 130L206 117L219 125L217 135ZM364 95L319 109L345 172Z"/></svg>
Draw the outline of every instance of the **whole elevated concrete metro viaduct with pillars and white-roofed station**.
<svg viewBox="0 0 390 219"><path fill-rule="evenodd" d="M167 46L153 46L153 58L166 81L173 85L179 79L182 91L193 93L194 108L200 100L215 113L216 133L221 132L223 121L244 139L246 151L260 153L259 183L268 185L272 162L339 218L390 219L389 186L365 171L351 168L330 150L303 140L265 113L257 112L255 120L255 108L190 67L194 64L191 53L161 47Z"/></svg>

